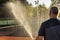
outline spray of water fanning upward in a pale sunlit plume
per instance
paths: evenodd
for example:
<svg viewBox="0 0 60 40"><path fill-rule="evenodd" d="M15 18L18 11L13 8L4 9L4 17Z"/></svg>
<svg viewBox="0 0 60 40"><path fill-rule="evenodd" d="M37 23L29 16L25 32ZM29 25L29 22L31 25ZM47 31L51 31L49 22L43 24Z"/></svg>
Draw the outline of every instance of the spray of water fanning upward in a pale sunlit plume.
<svg viewBox="0 0 60 40"><path fill-rule="evenodd" d="M29 22L26 20L24 15L26 13L26 10L23 7L22 3L20 3L19 1L9 2L7 3L7 7L11 9L11 12L15 16L15 18L18 20L19 24L22 24L24 26L24 29L27 31L30 37L34 40Z"/></svg>

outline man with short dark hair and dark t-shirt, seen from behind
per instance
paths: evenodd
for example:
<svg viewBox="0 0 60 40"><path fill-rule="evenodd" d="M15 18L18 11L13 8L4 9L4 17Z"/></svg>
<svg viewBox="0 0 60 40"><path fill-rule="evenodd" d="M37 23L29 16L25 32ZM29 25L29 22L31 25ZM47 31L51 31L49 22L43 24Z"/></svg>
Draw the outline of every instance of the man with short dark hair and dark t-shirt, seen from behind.
<svg viewBox="0 0 60 40"><path fill-rule="evenodd" d="M52 26L60 25L60 21L57 19L57 15L58 15L58 8L51 7L50 13L49 13L50 19L42 23L36 40L43 40L43 38L44 40L46 40L45 30Z"/></svg>

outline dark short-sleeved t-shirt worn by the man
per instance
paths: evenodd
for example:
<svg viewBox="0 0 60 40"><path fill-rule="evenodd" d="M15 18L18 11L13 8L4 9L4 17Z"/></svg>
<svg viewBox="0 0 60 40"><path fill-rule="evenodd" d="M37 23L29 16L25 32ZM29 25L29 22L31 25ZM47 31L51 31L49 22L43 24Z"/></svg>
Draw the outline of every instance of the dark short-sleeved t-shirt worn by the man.
<svg viewBox="0 0 60 40"><path fill-rule="evenodd" d="M56 25L60 25L60 21L55 18L51 18L51 19L43 22L41 25L41 28L39 29L38 36L44 36L44 39L45 39L45 30L49 27L53 27Z"/></svg>

